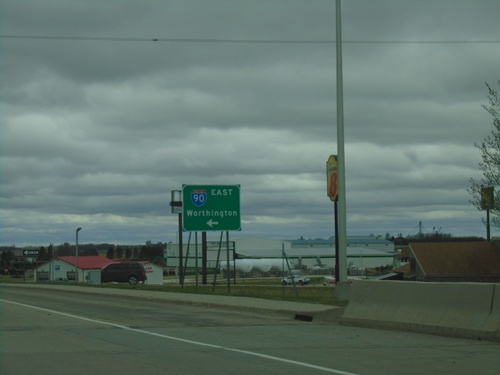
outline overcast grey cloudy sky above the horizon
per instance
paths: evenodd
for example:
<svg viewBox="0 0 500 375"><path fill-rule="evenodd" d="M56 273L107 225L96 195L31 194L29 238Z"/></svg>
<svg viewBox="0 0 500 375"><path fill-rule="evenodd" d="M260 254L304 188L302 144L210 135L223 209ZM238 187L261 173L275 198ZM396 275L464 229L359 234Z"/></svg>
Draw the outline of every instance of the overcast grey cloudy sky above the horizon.
<svg viewBox="0 0 500 375"><path fill-rule="evenodd" d="M499 15L342 1L348 236L485 237ZM0 0L0 34L0 244L176 241L183 184L241 185L230 236L333 235L334 0Z"/></svg>

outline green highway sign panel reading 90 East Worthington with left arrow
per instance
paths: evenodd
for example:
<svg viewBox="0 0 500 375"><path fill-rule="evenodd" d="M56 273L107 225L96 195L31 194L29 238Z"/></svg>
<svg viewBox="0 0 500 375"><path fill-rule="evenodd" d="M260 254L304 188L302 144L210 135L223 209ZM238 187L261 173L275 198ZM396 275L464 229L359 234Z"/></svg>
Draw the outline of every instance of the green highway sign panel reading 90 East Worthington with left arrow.
<svg viewBox="0 0 500 375"><path fill-rule="evenodd" d="M241 230L240 185L182 185L182 229Z"/></svg>

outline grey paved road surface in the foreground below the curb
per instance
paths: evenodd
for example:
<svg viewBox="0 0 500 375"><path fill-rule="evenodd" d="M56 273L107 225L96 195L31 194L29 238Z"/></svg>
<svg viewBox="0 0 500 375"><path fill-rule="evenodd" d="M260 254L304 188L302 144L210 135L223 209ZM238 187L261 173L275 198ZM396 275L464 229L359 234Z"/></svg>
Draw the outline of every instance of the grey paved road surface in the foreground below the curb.
<svg viewBox="0 0 500 375"><path fill-rule="evenodd" d="M0 373L500 373L500 344L0 284Z"/></svg>

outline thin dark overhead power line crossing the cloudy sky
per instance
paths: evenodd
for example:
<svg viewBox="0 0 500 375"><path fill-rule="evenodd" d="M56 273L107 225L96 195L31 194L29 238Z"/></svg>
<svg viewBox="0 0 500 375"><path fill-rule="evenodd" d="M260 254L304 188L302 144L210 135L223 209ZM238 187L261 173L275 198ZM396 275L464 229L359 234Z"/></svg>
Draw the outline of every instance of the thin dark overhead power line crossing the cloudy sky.
<svg viewBox="0 0 500 375"><path fill-rule="evenodd" d="M217 39L217 38L137 38L91 37L56 35L0 35L0 39L61 40L96 42L161 42L161 43L219 43L219 44L335 44L335 40L300 39ZM343 44L500 44L500 40L344 40Z"/></svg>

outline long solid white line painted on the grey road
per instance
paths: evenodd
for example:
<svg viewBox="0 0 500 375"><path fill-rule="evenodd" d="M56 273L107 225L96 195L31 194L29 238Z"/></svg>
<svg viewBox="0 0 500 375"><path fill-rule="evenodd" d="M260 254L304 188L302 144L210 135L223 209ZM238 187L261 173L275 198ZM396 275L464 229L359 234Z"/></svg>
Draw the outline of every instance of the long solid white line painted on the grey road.
<svg viewBox="0 0 500 375"><path fill-rule="evenodd" d="M330 372L330 373L333 373L333 374L339 374L339 375L360 375L360 374L355 374L353 372L346 372L346 371L341 371L341 370L335 370L335 369L328 368L328 367L313 365L311 363L293 361L293 360L286 359L286 358L275 357L275 356L272 356L272 355L251 352L251 351L248 351L248 350L241 350L241 349L236 349L236 348L229 348L227 346L207 344L205 342L187 340L187 339L182 339L180 337L174 337L174 336L168 336L168 335L162 335L160 333L149 332L149 331L145 331L145 330L142 330L142 329L127 327L127 326L124 326L122 324L117 324L117 323L105 322L105 321L102 321L102 320L96 320L96 319L86 318L84 316L79 316L79 315L74 315L74 314L68 314L68 313L64 313L64 312L56 311L56 310L51 310L51 309L45 309L43 307L38 307L38 306L33 306L33 305L27 305L25 303L9 301L9 300L2 299L2 298L0 298L0 301L7 302L7 303L10 303L10 304L13 304L13 305L27 307L27 308L34 309L34 310L40 310L40 311L50 312L52 314L58 314L58 315L66 316L66 317L69 317L69 318L84 320L86 322L91 322L91 323L96 323L96 324L103 324L103 325L107 325L107 326L111 326L111 327L115 327L115 328L120 328L120 329L127 330L127 331L133 331L133 332L137 332L137 333L143 333L145 335L150 335L150 336L155 336L155 337L161 337L161 338L168 339L168 340L180 341L180 342L184 342L184 343L187 343L187 344L204 346L204 347L213 348L213 349L226 350L226 351L229 351L229 352L236 352L236 353L241 353L241 354L247 354L247 355L251 355L251 356L254 356L254 357L266 358L266 359L269 359L269 360L272 360L272 361L289 363L289 364L292 364L292 365L297 365L297 366L307 367L307 368L311 368L311 369L315 369L315 370Z"/></svg>

